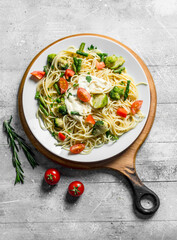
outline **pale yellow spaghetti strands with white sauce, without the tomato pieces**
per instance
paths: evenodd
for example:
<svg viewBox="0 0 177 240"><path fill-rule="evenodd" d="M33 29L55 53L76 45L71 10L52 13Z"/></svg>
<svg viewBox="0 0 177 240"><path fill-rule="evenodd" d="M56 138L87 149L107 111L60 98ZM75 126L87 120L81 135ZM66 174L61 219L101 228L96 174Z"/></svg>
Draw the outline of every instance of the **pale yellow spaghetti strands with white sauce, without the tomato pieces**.
<svg viewBox="0 0 177 240"><path fill-rule="evenodd" d="M46 112L39 107L37 118L40 126L50 131L58 140L57 145L69 150L71 146L83 143L85 149L81 154L89 154L93 148L117 140L122 134L133 129L144 116L139 109L136 114L132 114L131 107L138 99L138 90L126 69L119 74L105 66L106 55L101 59L98 49L84 52L88 56L77 54L77 50L70 46L67 50L59 52L52 60L47 75L39 81L37 93L45 103ZM101 60L103 68L100 69L98 63ZM72 69L72 76L66 76L66 69ZM67 77L67 89L63 94L59 94L61 78L66 81ZM127 99L124 101L121 94L120 99L112 99L110 92L115 86L125 94L127 81L130 81ZM89 101L83 102L78 98L80 87L90 94ZM103 96L106 104L94 107L95 96ZM126 117L117 114L118 108L125 109ZM94 135L94 124L86 122L88 115L92 116L94 122L101 121L105 124L107 131ZM56 119L59 125L55 124ZM59 138L59 132L66 137L64 141Z"/></svg>

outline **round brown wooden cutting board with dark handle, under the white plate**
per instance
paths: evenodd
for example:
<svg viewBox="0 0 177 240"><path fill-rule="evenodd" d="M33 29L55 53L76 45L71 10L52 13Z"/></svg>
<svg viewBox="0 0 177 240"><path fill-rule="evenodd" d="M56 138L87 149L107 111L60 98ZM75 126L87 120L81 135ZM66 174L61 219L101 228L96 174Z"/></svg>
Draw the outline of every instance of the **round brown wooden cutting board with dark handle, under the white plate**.
<svg viewBox="0 0 177 240"><path fill-rule="evenodd" d="M114 156L110 159L101 161L101 162L94 162L94 163L77 163L69 160L65 160L63 158L60 158L56 156L55 154L49 152L47 149L45 149L34 137L32 132L30 131L28 124L26 122L24 112L23 112L23 104L22 104L22 93L23 93L23 86L26 80L26 76L28 74L29 69L33 65L34 61L40 56L42 52L44 52L48 47L52 46L53 44L66 39L70 38L73 36L84 36L84 35L91 35L91 36L98 36L98 37L103 37L109 40L112 40L119 45L123 46L126 48L139 62L141 67L144 70L144 73L148 79L149 82L149 87L150 87L150 110L149 110L149 115L146 121L146 124L140 133L140 135L137 137L137 139L121 154L118 154L117 156ZM152 215L154 214L157 209L159 208L160 205L160 200L158 196L151 191L149 188L147 188L141 180L138 178L138 175L136 173L136 166L135 166L135 160L136 160L136 153L144 140L146 139L147 135L149 134L149 131L152 127L154 118L155 118L155 113L156 113L156 105L157 105L157 96L156 96L156 89L154 85L153 78L145 65L145 63L142 61L142 59L130 48L122 44L121 42L112 39L107 36L103 35L98 35L98 34L77 34L77 35L71 35L62 39L59 39L55 41L54 43L50 44L46 48L44 48L36 57L31 61L29 64L28 68L26 69L24 76L22 78L20 87L19 87L19 93L18 93L18 109L19 109L19 115L20 115L20 120L22 123L22 126L24 128L24 131L26 135L28 136L29 140L31 143L36 147L37 150L39 150L42 154L44 154L47 158L65 166L65 167L70 167L70 168L79 168L79 169L96 169L96 168L110 168L114 169L116 171L119 171L122 173L124 176L128 178L128 180L131 183L131 186L133 188L133 197L134 197L134 206L137 211L139 211L143 215ZM148 199L149 201L152 202L152 207L151 208L144 208L141 204L142 199Z"/></svg>

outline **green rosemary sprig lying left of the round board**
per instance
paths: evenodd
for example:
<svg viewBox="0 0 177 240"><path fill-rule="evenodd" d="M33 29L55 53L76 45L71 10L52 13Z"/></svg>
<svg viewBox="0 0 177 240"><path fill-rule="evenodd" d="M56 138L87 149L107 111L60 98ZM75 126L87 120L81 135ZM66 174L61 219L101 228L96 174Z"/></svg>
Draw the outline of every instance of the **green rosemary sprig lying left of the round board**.
<svg viewBox="0 0 177 240"><path fill-rule="evenodd" d="M18 142L19 146L22 148L28 162L30 163L32 168L35 168L38 163L34 159L34 153L32 152L31 148L26 144L25 139L19 136L14 128L11 126L12 116L8 121L3 122L4 129L7 133L7 141L9 146L12 150L12 163L16 170L16 183L23 183L24 182L24 171L21 167L21 162L18 157L19 148L15 141Z"/></svg>

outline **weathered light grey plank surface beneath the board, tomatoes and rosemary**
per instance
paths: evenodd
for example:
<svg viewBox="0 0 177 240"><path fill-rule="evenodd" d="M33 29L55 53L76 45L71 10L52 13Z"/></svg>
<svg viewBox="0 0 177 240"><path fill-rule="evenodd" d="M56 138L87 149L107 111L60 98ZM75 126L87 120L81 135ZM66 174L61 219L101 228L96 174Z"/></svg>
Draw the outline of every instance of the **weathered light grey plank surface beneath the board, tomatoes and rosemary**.
<svg viewBox="0 0 177 240"><path fill-rule="evenodd" d="M0 1L0 239L177 238L176 13L176 0ZM17 112L23 73L46 45L84 32L123 42L139 54L154 78L156 119L136 161L140 178L161 200L151 219L135 215L131 190L122 176L110 170L66 169L36 150L40 166L31 170L20 154L25 184L13 185L15 172L2 122L12 114L13 125L26 138ZM59 185L52 189L43 183L49 167L57 167L62 174ZM66 190L74 179L81 180L86 190L71 203Z"/></svg>

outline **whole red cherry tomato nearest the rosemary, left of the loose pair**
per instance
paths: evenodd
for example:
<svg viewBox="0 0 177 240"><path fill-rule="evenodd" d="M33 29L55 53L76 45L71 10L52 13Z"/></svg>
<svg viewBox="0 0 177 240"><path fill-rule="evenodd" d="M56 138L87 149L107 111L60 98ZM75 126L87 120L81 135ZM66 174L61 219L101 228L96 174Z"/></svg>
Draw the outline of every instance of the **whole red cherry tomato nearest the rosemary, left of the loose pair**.
<svg viewBox="0 0 177 240"><path fill-rule="evenodd" d="M49 168L45 172L44 179L49 185L55 185L60 180L60 173L55 168Z"/></svg>

